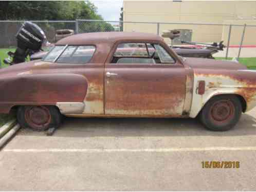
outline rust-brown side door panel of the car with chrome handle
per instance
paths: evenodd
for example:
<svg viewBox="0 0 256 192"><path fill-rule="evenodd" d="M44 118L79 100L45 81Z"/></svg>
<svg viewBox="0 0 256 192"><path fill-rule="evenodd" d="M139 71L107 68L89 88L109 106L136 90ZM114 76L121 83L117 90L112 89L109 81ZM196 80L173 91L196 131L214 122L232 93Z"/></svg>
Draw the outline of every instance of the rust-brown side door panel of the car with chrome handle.
<svg viewBox="0 0 256 192"><path fill-rule="evenodd" d="M125 55L129 55L127 49ZM175 60L106 63L104 86L106 115L178 117L184 109L185 69Z"/></svg>

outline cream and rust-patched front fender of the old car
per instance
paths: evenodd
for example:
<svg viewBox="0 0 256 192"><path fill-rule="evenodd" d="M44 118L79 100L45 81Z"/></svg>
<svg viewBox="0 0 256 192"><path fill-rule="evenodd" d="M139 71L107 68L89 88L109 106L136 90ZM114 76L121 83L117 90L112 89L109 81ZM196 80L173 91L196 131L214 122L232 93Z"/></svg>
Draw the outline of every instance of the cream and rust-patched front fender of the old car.
<svg viewBox="0 0 256 192"><path fill-rule="evenodd" d="M230 72L231 73L231 72ZM198 83L204 81L205 91L198 94ZM256 83L235 75L224 74L194 74L194 88L192 104L189 116L194 118L204 105L214 96L232 94L241 96L246 102L246 109L249 111L256 105Z"/></svg>

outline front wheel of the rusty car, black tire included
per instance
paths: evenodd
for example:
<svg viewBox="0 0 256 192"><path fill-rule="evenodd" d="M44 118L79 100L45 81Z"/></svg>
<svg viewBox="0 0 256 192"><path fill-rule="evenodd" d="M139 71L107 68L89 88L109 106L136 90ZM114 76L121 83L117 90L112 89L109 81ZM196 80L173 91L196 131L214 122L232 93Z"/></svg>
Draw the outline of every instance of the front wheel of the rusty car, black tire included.
<svg viewBox="0 0 256 192"><path fill-rule="evenodd" d="M239 121L242 105L235 95L211 98L199 113L200 121L211 131L228 131Z"/></svg>

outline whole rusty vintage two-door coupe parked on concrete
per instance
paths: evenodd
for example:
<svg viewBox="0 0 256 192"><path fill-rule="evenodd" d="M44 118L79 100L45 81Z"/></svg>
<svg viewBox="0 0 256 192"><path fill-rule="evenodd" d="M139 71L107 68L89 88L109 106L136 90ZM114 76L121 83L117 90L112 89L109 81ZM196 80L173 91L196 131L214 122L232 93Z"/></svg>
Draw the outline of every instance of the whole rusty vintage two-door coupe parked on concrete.
<svg viewBox="0 0 256 192"><path fill-rule="evenodd" d="M255 72L240 63L182 58L149 33L63 38L42 60L0 70L0 113L23 127L57 127L70 117L199 116L231 129L256 104Z"/></svg>

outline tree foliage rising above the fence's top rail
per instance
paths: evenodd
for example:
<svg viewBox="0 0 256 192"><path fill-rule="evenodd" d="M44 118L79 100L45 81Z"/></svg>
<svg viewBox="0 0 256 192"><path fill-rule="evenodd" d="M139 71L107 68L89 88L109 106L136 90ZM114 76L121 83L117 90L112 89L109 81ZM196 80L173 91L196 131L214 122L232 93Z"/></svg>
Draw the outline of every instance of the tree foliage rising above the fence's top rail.
<svg viewBox="0 0 256 192"><path fill-rule="evenodd" d="M1 20L102 19L97 7L84 1L2 1Z"/></svg>

